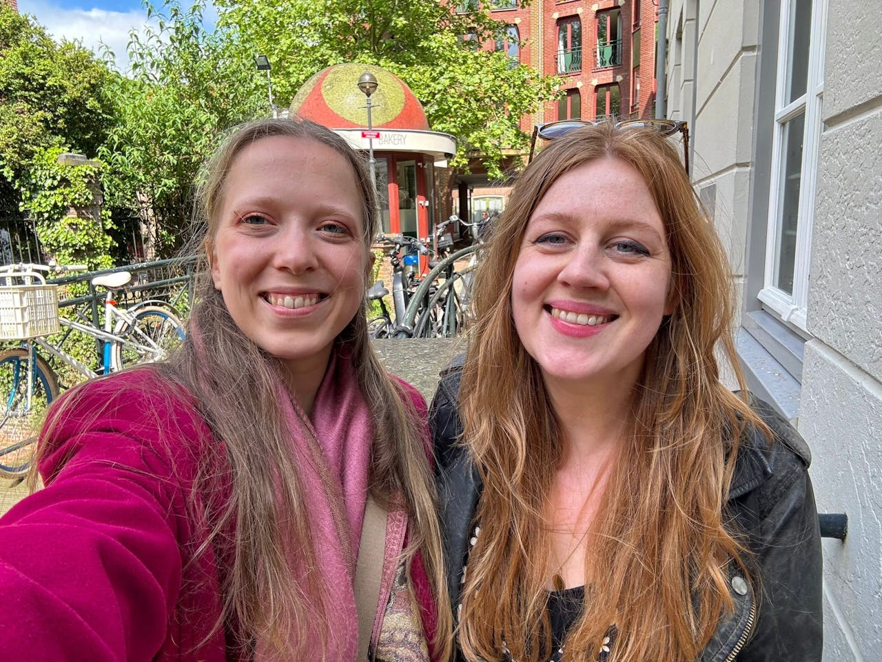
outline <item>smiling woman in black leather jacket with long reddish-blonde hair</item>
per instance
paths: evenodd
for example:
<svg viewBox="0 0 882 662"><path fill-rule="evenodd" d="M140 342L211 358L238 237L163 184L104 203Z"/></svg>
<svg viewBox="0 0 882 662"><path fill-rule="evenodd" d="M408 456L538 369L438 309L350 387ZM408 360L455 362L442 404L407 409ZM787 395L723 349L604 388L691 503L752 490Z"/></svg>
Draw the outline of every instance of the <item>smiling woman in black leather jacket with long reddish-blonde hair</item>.
<svg viewBox="0 0 882 662"><path fill-rule="evenodd" d="M819 660L808 448L746 395L713 223L640 124L551 141L476 275L430 413L459 655Z"/></svg>

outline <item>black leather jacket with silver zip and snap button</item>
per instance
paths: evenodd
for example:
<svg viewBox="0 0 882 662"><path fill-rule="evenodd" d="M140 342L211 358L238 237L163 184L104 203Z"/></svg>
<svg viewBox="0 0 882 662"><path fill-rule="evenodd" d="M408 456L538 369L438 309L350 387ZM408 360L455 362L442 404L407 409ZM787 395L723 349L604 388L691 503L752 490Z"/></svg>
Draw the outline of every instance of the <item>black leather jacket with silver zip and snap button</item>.
<svg viewBox="0 0 882 662"><path fill-rule="evenodd" d="M430 408L437 454L447 585L459 604L481 480L460 438L460 368L442 372ZM742 442L729 489L729 513L748 531L758 564L759 598L733 570L734 613L724 617L699 662L819 662L823 642L821 545L811 491L809 448L765 402L754 410L774 432L770 447L758 433ZM734 565L734 564L733 564ZM455 616L455 614L454 614Z"/></svg>

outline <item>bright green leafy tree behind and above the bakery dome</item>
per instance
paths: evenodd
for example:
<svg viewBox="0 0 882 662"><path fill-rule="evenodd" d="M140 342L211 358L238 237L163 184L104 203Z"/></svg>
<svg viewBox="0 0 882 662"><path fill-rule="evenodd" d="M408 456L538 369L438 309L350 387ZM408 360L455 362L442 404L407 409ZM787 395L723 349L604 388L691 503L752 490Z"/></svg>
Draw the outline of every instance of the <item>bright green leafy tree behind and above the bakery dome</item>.
<svg viewBox="0 0 882 662"><path fill-rule="evenodd" d="M430 125L460 140L452 166L479 150L500 177L504 147L527 145L519 120L554 98L556 79L516 65L477 44L505 33L477 3L440 0L218 0L219 30L244 53L273 62L273 88L291 99L310 76L332 64L377 64L404 80Z"/></svg>

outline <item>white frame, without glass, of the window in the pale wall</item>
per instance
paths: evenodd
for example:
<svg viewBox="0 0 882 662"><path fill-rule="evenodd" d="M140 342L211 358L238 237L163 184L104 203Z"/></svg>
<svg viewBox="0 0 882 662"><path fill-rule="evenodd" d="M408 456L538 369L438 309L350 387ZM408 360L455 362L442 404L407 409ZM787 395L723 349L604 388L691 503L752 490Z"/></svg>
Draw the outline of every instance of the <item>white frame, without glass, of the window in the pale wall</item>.
<svg viewBox="0 0 882 662"><path fill-rule="evenodd" d="M782 0L778 33L778 74L775 92L772 169L770 172L768 222L766 225L766 273L759 300L796 327L807 331L806 312L809 298L809 265L811 262L811 229L815 215L815 193L818 179L818 143L820 141L824 96L824 56L826 41L827 0L811 4L811 36L809 68L805 94L787 103L787 79L790 54L790 8L796 0ZM774 285L778 223L784 188L781 185L782 147L786 123L804 114L803 162L800 170L799 203L796 225L796 260L793 273L793 294Z"/></svg>

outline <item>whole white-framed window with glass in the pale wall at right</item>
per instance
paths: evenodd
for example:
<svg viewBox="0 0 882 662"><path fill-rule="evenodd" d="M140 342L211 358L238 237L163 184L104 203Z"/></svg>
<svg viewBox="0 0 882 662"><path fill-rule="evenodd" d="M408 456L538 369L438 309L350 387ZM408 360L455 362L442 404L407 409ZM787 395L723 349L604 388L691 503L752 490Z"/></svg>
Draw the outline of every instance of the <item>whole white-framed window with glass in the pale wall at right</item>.
<svg viewBox="0 0 882 662"><path fill-rule="evenodd" d="M778 36L766 269L759 299L806 330L814 220L825 0L784 0Z"/></svg>

